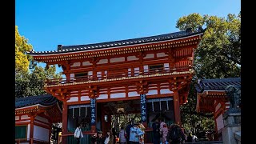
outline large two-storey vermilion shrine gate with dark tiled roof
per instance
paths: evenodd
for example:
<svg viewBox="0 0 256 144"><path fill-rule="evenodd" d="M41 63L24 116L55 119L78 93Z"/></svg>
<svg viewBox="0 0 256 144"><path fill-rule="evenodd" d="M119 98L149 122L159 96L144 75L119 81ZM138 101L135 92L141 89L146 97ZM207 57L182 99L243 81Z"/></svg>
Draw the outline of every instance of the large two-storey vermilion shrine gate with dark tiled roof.
<svg viewBox="0 0 256 144"><path fill-rule="evenodd" d="M194 50L204 30L88 45L62 46L29 54L46 66L62 66L66 78L47 79L45 90L63 102L63 143L74 139L78 122L83 133L111 128L111 118L140 114L150 133L151 121L165 115L181 122L194 74ZM148 140L149 141L149 140Z"/></svg>

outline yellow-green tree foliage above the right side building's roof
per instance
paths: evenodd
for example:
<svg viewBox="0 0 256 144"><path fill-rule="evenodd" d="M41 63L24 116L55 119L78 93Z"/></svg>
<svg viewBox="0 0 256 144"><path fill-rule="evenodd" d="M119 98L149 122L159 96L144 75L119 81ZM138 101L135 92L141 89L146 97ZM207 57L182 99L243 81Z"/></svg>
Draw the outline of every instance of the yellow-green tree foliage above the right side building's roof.
<svg viewBox="0 0 256 144"><path fill-rule="evenodd" d="M228 14L218 18L190 14L178 19L177 28L186 30L206 26L195 51L194 66L197 78L239 77L241 65L241 15Z"/></svg>

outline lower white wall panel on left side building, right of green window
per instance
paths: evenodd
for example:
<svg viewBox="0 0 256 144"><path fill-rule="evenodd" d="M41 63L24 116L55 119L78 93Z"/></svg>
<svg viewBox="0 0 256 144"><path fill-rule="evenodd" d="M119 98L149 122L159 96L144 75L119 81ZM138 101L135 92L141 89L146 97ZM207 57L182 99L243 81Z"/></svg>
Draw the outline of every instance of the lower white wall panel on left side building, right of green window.
<svg viewBox="0 0 256 144"><path fill-rule="evenodd" d="M49 142L49 130L40 126L34 125L34 139Z"/></svg>

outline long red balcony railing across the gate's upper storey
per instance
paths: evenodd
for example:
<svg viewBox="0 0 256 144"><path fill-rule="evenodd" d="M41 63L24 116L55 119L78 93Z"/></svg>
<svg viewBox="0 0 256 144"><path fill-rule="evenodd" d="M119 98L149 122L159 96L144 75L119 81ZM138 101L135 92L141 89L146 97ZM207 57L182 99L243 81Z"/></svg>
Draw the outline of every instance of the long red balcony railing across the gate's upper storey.
<svg viewBox="0 0 256 144"><path fill-rule="evenodd" d="M114 78L129 78L129 77L138 77L140 75L153 75L153 74L167 74L172 72L183 72L188 71L191 66L181 66L178 68L170 69L169 67L162 67L158 69L150 69L150 70L134 70L128 71L127 73L124 72L117 72L117 73L110 73L110 74L95 74L88 75L86 77L72 77L72 78L56 78L56 79L47 79L46 85L47 86L54 86L58 84L66 84L66 83L73 83L73 82L89 82L89 81L98 81L104 79L114 79Z"/></svg>

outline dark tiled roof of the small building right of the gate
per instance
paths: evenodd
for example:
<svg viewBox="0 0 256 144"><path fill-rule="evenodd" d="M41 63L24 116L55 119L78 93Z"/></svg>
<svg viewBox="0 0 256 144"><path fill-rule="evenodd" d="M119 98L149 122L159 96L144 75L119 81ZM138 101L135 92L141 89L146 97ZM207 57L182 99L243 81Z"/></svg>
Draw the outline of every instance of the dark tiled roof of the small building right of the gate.
<svg viewBox="0 0 256 144"><path fill-rule="evenodd" d="M241 78L215 78L215 79L202 79L195 85L198 93L204 90L225 90L226 86L234 85L241 88Z"/></svg>

